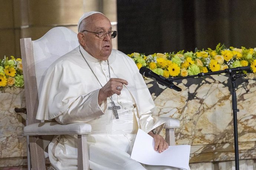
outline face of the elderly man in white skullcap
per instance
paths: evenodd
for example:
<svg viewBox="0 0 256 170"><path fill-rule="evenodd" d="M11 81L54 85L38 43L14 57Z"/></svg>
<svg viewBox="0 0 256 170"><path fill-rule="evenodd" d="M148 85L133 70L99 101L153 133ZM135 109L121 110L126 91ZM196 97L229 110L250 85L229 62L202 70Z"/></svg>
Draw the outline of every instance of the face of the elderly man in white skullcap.
<svg viewBox="0 0 256 170"><path fill-rule="evenodd" d="M109 32L112 30L111 23L102 14L93 14L91 16L91 24L86 27L87 31L99 33L101 31ZM107 34L105 38L100 39L98 34L89 33L84 31L85 34L85 50L93 57L99 60L107 60L112 50L112 39Z"/></svg>

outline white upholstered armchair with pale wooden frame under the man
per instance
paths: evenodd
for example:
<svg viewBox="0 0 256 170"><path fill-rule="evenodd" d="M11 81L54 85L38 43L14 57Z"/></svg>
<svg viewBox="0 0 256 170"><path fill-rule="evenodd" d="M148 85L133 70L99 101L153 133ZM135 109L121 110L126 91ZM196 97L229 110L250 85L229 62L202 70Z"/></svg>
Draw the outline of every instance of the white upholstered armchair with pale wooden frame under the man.
<svg viewBox="0 0 256 170"><path fill-rule="evenodd" d="M57 122L36 120L38 99L46 69L56 59L78 45L77 34L65 27L52 28L42 38L35 41L31 38L20 39L27 112L24 136L29 136L27 137L28 169L30 169L30 154L32 169L46 169L42 135L63 134L78 135L78 169L89 169L86 134L91 133L91 125L86 123L60 125ZM170 145L175 145L174 128L179 128L180 122L171 118L163 119L166 122L166 140Z"/></svg>

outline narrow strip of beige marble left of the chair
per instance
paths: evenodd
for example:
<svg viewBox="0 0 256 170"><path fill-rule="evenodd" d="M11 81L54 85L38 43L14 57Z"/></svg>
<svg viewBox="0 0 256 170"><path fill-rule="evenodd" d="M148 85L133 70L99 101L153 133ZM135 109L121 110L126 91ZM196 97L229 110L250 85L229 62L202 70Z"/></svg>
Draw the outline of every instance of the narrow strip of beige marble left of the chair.
<svg viewBox="0 0 256 170"><path fill-rule="evenodd" d="M26 137L22 136L26 115L14 111L22 107L24 89L7 87L0 91L0 167L26 162Z"/></svg>

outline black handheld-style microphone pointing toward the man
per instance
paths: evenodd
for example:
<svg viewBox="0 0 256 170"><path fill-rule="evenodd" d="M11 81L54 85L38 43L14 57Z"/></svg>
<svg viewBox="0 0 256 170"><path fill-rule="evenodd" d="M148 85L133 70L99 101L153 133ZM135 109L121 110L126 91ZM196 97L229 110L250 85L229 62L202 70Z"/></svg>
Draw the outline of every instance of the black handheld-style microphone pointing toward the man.
<svg viewBox="0 0 256 170"><path fill-rule="evenodd" d="M179 91L179 92L181 91L181 88L179 88L178 86L175 86L173 84L173 82L171 82L170 80L168 80L164 76L155 74L151 69L149 69L147 67L141 67L140 68L140 74L142 74L145 77L151 78L152 80L158 82L158 84L166 86L170 89L174 89L174 90Z"/></svg>

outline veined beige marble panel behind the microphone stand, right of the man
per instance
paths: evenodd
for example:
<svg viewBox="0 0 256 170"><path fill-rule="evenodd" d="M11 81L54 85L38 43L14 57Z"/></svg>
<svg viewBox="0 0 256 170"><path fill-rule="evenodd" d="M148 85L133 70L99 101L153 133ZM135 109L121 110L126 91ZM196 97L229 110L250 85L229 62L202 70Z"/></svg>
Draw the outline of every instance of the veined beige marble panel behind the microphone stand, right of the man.
<svg viewBox="0 0 256 170"><path fill-rule="evenodd" d="M236 81L240 159L256 158L256 76ZM229 76L189 78L175 83L181 92L146 80L153 114L180 120L177 145L191 145L190 163L234 160L233 110ZM176 82L176 81L175 81Z"/></svg>

